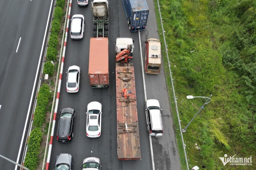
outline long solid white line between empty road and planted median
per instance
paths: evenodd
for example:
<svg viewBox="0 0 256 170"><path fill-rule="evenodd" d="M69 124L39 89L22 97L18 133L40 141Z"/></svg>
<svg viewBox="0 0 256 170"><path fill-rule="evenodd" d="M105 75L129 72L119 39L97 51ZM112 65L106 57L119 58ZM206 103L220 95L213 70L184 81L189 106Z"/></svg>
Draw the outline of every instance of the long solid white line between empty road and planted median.
<svg viewBox="0 0 256 170"><path fill-rule="evenodd" d="M37 66L37 70L36 70L36 77L35 77L34 86L33 86L32 94L31 94L30 102L29 102L27 118L26 118L24 130L23 130L23 134L22 134L22 139L21 139L21 142L20 142L20 149L19 149L19 153L18 153L18 157L17 157L16 163L19 162L19 157L20 157L20 152L21 152L21 148L22 148L22 143L23 143L23 140L24 140L25 132L26 132L26 127L27 127L28 117L29 117L29 111L30 111L30 107L31 107L32 99L33 99L33 94L34 94L34 91L35 91L35 86L36 86L36 81L37 81L37 74L38 74L38 70L39 70L39 66L40 66L40 61L41 61L42 53L43 53L43 49L44 49L44 42L45 42L47 27L48 27L48 23L49 23L50 14L51 14L52 4L53 4L53 0L51 2L51 6L50 6L50 10L49 10L49 15L48 15L47 24L46 24L45 33L44 33L44 40L43 40L42 49L41 49L41 52L40 52L40 57L39 57L38 66ZM17 169L17 167L18 166L16 165L15 166L15 170Z"/></svg>

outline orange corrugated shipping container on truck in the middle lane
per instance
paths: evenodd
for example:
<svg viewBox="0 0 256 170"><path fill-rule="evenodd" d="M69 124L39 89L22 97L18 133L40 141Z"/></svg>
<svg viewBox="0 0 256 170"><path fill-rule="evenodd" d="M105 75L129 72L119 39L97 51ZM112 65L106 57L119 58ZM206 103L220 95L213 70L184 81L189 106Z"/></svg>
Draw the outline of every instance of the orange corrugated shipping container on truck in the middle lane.
<svg viewBox="0 0 256 170"><path fill-rule="evenodd" d="M108 38L90 38L88 73L92 88L109 86Z"/></svg>

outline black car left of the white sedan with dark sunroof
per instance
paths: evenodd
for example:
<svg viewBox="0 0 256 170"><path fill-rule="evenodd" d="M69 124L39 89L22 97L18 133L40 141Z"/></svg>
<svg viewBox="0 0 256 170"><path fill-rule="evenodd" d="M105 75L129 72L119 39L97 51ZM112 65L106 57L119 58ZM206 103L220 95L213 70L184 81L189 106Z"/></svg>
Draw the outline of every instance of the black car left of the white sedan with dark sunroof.
<svg viewBox="0 0 256 170"><path fill-rule="evenodd" d="M58 131L57 131L57 140L58 142L70 142L73 137L73 128L74 128L74 118L75 118L75 109L73 108L64 108L61 110Z"/></svg>

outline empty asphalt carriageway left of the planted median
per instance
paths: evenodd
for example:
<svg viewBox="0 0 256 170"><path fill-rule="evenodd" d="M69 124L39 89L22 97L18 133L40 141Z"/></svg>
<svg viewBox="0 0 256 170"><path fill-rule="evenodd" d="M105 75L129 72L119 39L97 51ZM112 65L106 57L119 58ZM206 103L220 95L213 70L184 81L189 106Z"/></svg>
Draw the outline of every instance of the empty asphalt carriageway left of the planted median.
<svg viewBox="0 0 256 170"><path fill-rule="evenodd" d="M0 154L15 162L29 104L34 102L30 99L50 6L51 1L45 0L0 1ZM28 124L31 109L29 113ZM15 169L15 164L2 158L0 165L0 169Z"/></svg>

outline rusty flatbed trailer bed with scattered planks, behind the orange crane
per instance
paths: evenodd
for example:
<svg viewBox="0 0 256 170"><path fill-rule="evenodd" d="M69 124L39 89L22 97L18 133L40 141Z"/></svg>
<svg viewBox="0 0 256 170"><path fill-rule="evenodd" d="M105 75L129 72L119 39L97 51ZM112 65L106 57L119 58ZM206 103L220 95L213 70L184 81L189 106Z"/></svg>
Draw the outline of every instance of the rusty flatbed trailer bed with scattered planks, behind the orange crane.
<svg viewBox="0 0 256 170"><path fill-rule="evenodd" d="M116 94L118 159L140 159L139 124L132 63L116 63Z"/></svg>

